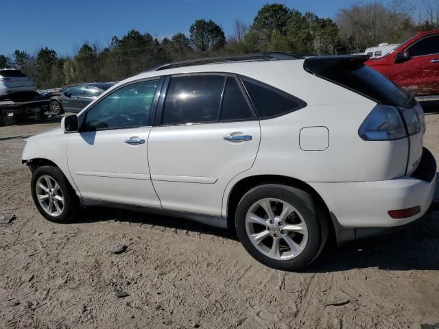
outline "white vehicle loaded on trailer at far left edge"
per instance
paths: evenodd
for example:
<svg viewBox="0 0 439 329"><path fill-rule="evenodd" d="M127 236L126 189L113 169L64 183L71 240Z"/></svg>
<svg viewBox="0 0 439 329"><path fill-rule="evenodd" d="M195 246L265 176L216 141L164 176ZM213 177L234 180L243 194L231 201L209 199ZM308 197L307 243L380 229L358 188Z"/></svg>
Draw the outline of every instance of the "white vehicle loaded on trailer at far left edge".
<svg viewBox="0 0 439 329"><path fill-rule="evenodd" d="M0 96L21 91L34 91L34 80L20 70L0 69Z"/></svg>

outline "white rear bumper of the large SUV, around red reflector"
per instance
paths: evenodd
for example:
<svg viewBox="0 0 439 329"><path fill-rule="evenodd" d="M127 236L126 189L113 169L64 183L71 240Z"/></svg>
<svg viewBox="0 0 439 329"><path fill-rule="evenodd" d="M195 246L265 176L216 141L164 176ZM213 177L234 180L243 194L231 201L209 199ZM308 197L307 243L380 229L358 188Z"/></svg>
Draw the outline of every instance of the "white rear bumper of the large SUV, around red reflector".
<svg viewBox="0 0 439 329"><path fill-rule="evenodd" d="M411 176L378 182L309 183L327 204L335 230L342 240L352 240L401 229L422 217L436 189L436 160L423 149L418 169ZM393 219L389 210L420 207L420 212L404 219ZM338 236L337 236L338 238ZM340 241L340 239L338 239Z"/></svg>

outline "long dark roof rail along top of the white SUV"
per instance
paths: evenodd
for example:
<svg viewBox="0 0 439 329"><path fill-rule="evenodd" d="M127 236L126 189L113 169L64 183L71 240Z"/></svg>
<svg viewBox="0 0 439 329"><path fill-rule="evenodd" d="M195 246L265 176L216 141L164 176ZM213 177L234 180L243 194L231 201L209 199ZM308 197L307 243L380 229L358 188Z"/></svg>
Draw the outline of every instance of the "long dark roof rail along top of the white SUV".
<svg viewBox="0 0 439 329"><path fill-rule="evenodd" d="M214 64L222 62L238 62L238 61L250 61L250 60L299 60L303 59L300 55L292 55L289 53L269 52L269 53L243 53L241 55L225 55L225 56L211 56L204 58L195 58L192 60L181 60L178 62L169 62L159 64L152 67L145 72L161 71L165 69L174 69L176 67L202 65L202 64Z"/></svg>

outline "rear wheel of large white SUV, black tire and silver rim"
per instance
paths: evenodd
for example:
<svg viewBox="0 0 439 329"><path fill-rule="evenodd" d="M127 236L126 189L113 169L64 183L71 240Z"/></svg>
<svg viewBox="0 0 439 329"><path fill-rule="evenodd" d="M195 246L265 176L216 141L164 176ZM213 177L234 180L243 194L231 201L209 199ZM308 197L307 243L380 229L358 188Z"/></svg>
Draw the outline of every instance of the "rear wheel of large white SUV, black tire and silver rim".
<svg viewBox="0 0 439 329"><path fill-rule="evenodd" d="M274 269L298 271L317 258L327 241L324 217L319 202L309 193L267 184L242 197L235 226L239 240L254 259Z"/></svg>

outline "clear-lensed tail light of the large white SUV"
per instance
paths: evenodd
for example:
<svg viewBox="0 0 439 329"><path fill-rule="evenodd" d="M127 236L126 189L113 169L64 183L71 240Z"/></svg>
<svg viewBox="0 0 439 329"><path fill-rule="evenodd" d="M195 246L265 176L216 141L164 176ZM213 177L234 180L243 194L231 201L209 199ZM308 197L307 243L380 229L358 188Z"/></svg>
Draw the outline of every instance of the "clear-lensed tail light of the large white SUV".
<svg viewBox="0 0 439 329"><path fill-rule="evenodd" d="M425 132L422 107L399 108L378 104L370 112L358 130L364 141L394 141Z"/></svg>

